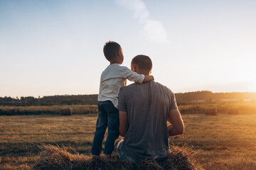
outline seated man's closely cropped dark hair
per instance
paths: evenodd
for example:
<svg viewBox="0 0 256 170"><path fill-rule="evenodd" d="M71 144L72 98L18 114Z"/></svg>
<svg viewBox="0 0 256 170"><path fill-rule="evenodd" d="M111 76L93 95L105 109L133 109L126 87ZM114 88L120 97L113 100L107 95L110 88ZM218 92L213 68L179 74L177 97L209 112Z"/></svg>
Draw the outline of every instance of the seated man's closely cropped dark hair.
<svg viewBox="0 0 256 170"><path fill-rule="evenodd" d="M139 69L150 72L152 69L152 61L146 55L137 55L132 59L132 64L136 64Z"/></svg>

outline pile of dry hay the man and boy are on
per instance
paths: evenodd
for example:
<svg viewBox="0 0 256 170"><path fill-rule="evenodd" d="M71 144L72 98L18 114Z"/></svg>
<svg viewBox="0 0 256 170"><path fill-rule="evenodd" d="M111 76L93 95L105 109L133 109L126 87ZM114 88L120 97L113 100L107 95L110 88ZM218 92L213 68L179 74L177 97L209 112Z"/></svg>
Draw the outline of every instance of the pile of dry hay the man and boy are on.
<svg viewBox="0 0 256 170"><path fill-rule="evenodd" d="M70 154L66 148L53 145L41 146L41 154L32 170L53 169L202 169L196 162L194 153L188 147L173 147L168 159L161 162L144 160L137 164L120 160L117 154L112 159L92 158L85 155Z"/></svg>

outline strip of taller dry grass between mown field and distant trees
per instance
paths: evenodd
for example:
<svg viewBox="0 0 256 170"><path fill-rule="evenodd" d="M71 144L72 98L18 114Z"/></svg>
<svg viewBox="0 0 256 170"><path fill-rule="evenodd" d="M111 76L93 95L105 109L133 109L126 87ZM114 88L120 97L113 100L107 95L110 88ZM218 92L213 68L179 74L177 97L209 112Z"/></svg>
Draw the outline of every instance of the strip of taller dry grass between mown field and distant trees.
<svg viewBox="0 0 256 170"><path fill-rule="evenodd" d="M60 106L0 106L0 115L59 115L61 109L71 108L74 114L97 113L97 105L60 105ZM182 114L205 113L207 108L217 108L218 113L228 113L230 108L237 108L240 114L256 113L256 103L246 102L215 102L215 103L188 103L179 105Z"/></svg>

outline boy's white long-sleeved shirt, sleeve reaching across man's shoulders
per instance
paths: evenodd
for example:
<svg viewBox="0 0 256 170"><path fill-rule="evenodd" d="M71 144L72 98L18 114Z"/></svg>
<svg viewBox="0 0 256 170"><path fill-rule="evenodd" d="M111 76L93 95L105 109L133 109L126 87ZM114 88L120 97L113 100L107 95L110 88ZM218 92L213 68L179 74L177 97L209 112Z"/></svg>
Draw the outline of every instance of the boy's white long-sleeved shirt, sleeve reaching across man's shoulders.
<svg viewBox="0 0 256 170"><path fill-rule="evenodd" d="M122 86L126 86L127 79L142 84L144 74L137 74L119 64L110 64L100 77L98 101L112 101L114 107L118 108L118 94Z"/></svg>

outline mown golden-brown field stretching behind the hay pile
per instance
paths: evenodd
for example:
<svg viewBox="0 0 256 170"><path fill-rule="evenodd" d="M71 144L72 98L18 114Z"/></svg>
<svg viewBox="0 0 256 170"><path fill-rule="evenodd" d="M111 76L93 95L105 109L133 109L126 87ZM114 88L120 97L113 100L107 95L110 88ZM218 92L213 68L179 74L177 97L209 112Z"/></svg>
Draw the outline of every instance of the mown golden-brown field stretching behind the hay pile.
<svg viewBox="0 0 256 170"><path fill-rule="evenodd" d="M188 145L204 169L256 169L256 114L182 117L185 133L170 144ZM97 114L1 115L0 169L29 169L42 144L90 155L96 120Z"/></svg>

